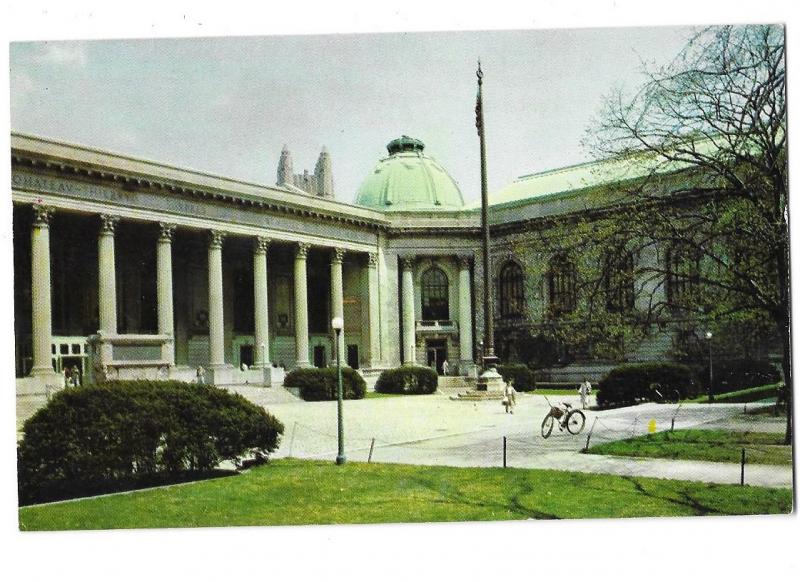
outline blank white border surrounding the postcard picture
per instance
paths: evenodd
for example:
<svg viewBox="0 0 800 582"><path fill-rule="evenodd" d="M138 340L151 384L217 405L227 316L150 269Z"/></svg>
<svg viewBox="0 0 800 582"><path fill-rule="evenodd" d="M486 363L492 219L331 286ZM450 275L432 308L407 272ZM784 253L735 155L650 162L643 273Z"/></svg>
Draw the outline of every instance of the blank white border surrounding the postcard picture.
<svg viewBox="0 0 800 582"><path fill-rule="evenodd" d="M790 2L759 0L747 6L725 1L633 0L520 3L464 2L109 2L12 1L0 16L3 39L316 34L418 30L573 28L727 22L787 22L790 95L800 72L794 66L800 37ZM0 151L9 151L8 44L0 45ZM790 111L795 111L791 99ZM796 125L790 129L795 143ZM798 166L791 155L791 175ZM0 162L0 183L9 191L9 158ZM794 180L793 180L794 182ZM794 190L794 189L793 189ZM10 275L10 198L0 213L0 269ZM797 221L797 204L791 212ZM797 230L796 228L794 230ZM800 258L793 237L795 265ZM793 269L794 280L798 271ZM0 303L13 301L11 277ZM0 329L11 330L11 309ZM794 327L794 332L797 327ZM794 337L798 337L796 334ZM15 506L13 439L13 337L0 347L6 374L0 405L0 573L30 580L206 580L258 576L273 579L570 580L769 579L794 574L798 519L692 518L504 522L391 526L231 528L20 534ZM562 569L563 568L563 569Z"/></svg>

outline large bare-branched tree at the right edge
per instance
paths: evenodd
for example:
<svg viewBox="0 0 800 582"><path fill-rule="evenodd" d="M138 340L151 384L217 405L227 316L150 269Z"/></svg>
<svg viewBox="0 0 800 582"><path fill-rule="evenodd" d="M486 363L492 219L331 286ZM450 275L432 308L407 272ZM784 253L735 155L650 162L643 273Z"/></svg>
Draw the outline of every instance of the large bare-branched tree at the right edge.
<svg viewBox="0 0 800 582"><path fill-rule="evenodd" d="M672 256L637 267L639 279L661 277L691 287L681 298L687 313L754 327L767 321L780 337L788 443L784 56L779 26L704 29L672 63L650 72L638 92L610 97L587 144L635 177L622 190L614 186L616 200L604 219L612 226L603 227L605 234L595 229L595 242L613 235L673 249ZM609 212L613 208L616 214ZM692 264L697 268L681 267ZM671 303L675 307L674 297Z"/></svg>

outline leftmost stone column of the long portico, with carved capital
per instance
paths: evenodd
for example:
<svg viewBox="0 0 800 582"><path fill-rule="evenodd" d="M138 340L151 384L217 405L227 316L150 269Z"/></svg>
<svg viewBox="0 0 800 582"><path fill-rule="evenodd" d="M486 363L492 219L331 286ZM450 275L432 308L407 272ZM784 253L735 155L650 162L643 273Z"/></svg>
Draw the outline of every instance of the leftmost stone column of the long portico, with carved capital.
<svg viewBox="0 0 800 582"><path fill-rule="evenodd" d="M50 291L50 218L53 209L33 207L31 229L31 306L33 308L33 367L31 376L55 374L51 345L53 319Z"/></svg>

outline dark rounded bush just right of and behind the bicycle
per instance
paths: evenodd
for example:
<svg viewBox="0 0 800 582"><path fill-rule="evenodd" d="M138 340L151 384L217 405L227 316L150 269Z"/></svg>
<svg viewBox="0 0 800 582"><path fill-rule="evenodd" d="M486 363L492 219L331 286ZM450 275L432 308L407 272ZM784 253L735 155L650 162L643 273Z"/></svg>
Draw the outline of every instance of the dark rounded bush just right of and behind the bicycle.
<svg viewBox="0 0 800 582"><path fill-rule="evenodd" d="M625 364L613 368L600 380L597 404L601 407L635 404L649 398L651 384L660 384L664 392L677 390L681 398L697 392L694 374L683 364Z"/></svg>

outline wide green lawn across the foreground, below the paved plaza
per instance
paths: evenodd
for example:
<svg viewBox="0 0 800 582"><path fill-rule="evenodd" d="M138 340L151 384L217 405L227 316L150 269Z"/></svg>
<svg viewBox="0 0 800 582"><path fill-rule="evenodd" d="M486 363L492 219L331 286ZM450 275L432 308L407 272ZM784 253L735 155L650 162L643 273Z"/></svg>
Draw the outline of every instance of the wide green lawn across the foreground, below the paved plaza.
<svg viewBox="0 0 800 582"><path fill-rule="evenodd" d="M19 509L22 530L788 513L789 489L283 459L234 477Z"/></svg>

